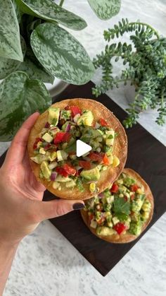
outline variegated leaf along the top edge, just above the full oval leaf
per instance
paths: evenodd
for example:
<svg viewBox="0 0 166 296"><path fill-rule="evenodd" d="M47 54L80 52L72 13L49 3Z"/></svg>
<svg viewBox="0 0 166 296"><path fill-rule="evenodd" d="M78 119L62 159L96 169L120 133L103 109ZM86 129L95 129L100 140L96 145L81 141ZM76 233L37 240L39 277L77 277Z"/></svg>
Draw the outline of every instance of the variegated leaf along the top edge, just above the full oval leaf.
<svg viewBox="0 0 166 296"><path fill-rule="evenodd" d="M52 0L15 0L23 13L37 16L53 23L60 23L73 30L87 27L83 18L67 11Z"/></svg>

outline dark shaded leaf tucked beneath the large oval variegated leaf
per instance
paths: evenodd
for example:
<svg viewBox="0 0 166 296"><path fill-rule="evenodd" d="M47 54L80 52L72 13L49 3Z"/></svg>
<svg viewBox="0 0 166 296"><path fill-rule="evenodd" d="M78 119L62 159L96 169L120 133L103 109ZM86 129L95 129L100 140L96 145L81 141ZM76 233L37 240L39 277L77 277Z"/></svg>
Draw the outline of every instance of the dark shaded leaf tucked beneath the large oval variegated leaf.
<svg viewBox="0 0 166 296"><path fill-rule="evenodd" d="M23 71L31 79L39 79L45 83L53 83L54 77L47 73L42 66L39 64L34 64L29 57L25 56L23 63L20 64L18 71Z"/></svg>

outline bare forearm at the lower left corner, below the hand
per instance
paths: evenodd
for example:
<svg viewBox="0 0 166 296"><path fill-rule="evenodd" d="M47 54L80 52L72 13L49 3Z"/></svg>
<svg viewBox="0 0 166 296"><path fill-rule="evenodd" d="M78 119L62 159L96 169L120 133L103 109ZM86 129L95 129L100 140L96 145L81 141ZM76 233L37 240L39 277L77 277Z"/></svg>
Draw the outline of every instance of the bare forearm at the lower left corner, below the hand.
<svg viewBox="0 0 166 296"><path fill-rule="evenodd" d="M0 238L0 296L3 295L17 247L18 244L6 244Z"/></svg>

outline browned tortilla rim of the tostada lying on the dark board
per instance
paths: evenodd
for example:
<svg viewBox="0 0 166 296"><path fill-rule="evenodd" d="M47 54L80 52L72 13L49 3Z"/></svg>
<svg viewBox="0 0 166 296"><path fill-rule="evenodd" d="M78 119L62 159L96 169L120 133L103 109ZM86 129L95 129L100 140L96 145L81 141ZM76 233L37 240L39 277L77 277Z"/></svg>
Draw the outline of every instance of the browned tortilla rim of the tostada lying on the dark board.
<svg viewBox="0 0 166 296"><path fill-rule="evenodd" d="M148 224L151 222L151 219L153 217L153 210L154 210L154 200L153 200L153 194L151 193L151 189L148 187L148 184L141 178L141 176L139 174L137 174L137 172L134 172L134 170L132 169L124 169L123 172L125 172L126 174L129 174L129 176L133 177L136 180L136 184L138 184L140 187L141 185L143 185L144 190L145 190L145 194L146 194L146 199L148 199L148 201L151 202L151 213L148 217L148 220L146 221L146 223L143 224L141 233L143 232L143 230L146 229L146 227L148 226ZM84 220L84 223L87 225L87 227L89 227L89 230L91 230L91 232L96 235L97 237L99 237L100 239L104 239L107 242L113 242L113 243L117 243L117 244L124 244L127 242L132 242L134 239L136 239L138 236L136 235L131 235L131 233L126 232L124 235L110 235L110 236L101 236L101 235L97 235L96 234L96 230L92 227L90 227L89 225L89 219L88 219L88 213L87 211L81 210L81 215L82 218ZM141 234L140 234L141 235Z"/></svg>

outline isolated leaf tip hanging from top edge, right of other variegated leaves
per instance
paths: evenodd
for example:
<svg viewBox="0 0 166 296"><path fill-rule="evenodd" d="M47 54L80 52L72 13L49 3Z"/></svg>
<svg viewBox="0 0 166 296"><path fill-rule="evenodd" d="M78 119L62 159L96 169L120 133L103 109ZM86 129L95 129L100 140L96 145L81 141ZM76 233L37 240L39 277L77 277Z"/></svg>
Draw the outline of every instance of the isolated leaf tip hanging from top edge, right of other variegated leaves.
<svg viewBox="0 0 166 296"><path fill-rule="evenodd" d="M88 0L88 2L101 20L109 20L120 11L121 0Z"/></svg>

